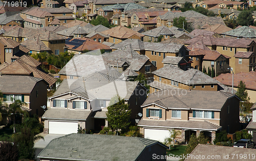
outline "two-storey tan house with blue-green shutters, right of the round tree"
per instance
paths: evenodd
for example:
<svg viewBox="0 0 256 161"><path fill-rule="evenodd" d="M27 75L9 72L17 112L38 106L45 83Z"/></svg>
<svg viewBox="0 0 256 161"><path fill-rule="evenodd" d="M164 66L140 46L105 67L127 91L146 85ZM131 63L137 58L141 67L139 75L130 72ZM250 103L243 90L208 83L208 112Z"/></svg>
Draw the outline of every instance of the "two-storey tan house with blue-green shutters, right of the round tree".
<svg viewBox="0 0 256 161"><path fill-rule="evenodd" d="M175 129L181 131L176 137L179 142L200 133L213 142L220 130L239 130L239 102L236 95L222 91L160 90L141 106L143 117L138 126L144 137L152 140L163 141L169 130Z"/></svg>

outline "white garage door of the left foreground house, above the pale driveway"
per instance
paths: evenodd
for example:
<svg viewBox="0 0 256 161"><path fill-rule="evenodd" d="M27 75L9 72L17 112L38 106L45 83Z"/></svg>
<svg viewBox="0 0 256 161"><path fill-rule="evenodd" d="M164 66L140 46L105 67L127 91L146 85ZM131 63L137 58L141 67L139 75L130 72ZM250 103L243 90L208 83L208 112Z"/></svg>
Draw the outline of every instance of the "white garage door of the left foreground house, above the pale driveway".
<svg viewBox="0 0 256 161"><path fill-rule="evenodd" d="M69 134L77 133L77 122L49 121L49 133Z"/></svg>

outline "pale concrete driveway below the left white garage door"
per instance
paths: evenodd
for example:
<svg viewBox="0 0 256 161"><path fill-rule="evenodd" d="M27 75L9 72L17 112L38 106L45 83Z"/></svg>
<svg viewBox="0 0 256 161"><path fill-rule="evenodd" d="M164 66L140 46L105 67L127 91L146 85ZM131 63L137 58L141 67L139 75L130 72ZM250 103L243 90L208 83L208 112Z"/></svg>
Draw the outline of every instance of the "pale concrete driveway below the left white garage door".
<svg viewBox="0 0 256 161"><path fill-rule="evenodd" d="M42 149L44 149L48 143L51 142L51 140L57 138L57 137L61 137L64 136L65 134L44 134L44 133L40 133L41 136L44 136L45 141L43 139L37 140L35 141L35 159L39 160L37 158L37 155L42 151Z"/></svg>

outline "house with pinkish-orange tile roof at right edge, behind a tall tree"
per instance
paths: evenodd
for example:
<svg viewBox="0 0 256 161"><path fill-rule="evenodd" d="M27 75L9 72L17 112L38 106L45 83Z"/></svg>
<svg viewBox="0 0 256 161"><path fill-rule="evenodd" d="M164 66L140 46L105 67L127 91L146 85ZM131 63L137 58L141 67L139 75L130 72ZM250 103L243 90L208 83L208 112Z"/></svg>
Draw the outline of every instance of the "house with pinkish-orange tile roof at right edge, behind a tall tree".
<svg viewBox="0 0 256 161"><path fill-rule="evenodd" d="M234 74L234 81L233 81L233 88L234 90L238 89L238 85L240 81L243 81L246 85L246 91L248 93L248 96L250 97L250 102L256 102L255 94L256 94L256 87L255 87L255 80L256 75L254 71L251 71L249 73L237 73ZM226 73L226 74L221 74L215 79L222 84L232 87L232 73Z"/></svg>

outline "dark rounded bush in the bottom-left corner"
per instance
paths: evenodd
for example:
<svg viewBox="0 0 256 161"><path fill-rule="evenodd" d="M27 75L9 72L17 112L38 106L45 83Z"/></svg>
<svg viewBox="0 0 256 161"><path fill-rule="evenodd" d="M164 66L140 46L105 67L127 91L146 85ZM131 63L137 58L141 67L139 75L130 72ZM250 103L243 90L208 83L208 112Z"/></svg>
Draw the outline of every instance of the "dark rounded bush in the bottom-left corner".
<svg viewBox="0 0 256 161"><path fill-rule="evenodd" d="M17 161L18 148L17 145L11 142L0 143L0 161Z"/></svg>

